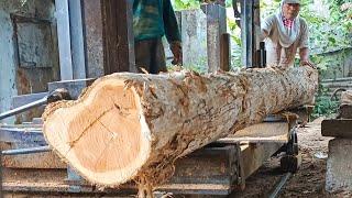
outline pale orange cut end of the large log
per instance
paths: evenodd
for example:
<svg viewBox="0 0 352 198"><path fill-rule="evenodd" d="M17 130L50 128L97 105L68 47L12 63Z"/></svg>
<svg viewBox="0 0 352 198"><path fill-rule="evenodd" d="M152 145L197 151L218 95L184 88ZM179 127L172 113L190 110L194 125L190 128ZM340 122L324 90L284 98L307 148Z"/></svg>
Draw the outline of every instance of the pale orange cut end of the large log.
<svg viewBox="0 0 352 198"><path fill-rule="evenodd" d="M95 84L78 101L53 111L45 123L51 145L96 184L130 180L150 155L141 98L134 87L125 89L123 79Z"/></svg>

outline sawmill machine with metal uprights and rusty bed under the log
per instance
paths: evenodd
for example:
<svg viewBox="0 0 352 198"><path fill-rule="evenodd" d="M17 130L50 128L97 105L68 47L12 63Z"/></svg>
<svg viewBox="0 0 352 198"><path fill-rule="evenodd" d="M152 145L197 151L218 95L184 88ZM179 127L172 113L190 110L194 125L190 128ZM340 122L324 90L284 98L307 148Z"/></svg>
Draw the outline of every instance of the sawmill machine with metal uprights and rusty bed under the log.
<svg viewBox="0 0 352 198"><path fill-rule="evenodd" d="M64 7L64 1L57 1L57 7ZM98 1L92 2L95 3ZM108 2L108 1L107 1ZM241 26L242 31L242 51L243 57L242 62L248 68L254 67L265 67L265 45L260 42L260 1L258 0L233 0L233 9L235 18ZM125 43L121 43L124 47L116 48L110 43L106 43L106 54L111 52L118 53L118 59L113 57L105 56L105 70L102 74L108 75L114 72L129 70L131 65L133 65L133 47L131 47L131 3L127 1L111 1L112 6L117 7L119 12L113 12L112 9L106 10L106 26L102 26L105 33L109 33L107 36L122 36ZM85 1L81 7L89 6L89 1ZM212 6L220 8L220 6ZM76 8L76 7L75 7ZM102 10L106 7L101 8ZM84 10L78 8L78 10ZM99 9L98 9L99 10ZM66 8L66 12L69 16L75 11L75 9ZM116 14L121 14L121 18L114 18ZM86 15L87 16L87 15ZM121 20L124 20L121 22ZM226 20L226 19L224 19ZM85 20L82 20L85 21ZM95 21L91 21L92 23ZM118 26L117 30L111 30L111 24ZM67 24L66 24L67 25ZM80 24L80 28L84 29L84 22ZM94 25L94 24L90 24ZM61 24L58 20L58 29L65 26ZM110 31L110 32L109 32ZM75 36L76 35L76 36ZM79 37L77 34L72 34L72 37L62 37L59 36L59 43L62 42L77 42ZM110 37L110 38L111 38ZM91 38L91 37L90 37ZM88 43L88 46L73 45L75 47L81 47L80 50L89 50L89 37L86 37L85 42ZM107 38L108 40L108 38ZM109 40L112 41L112 40ZM122 40L121 40L122 41ZM96 42L96 41L94 41ZM79 43L79 42L78 42ZM65 48L65 45L61 45L64 48L61 48L61 58L65 58L66 51L70 52L70 48ZM79 48L76 48L79 52ZM96 52L86 52L86 54L96 53ZM85 54L85 53L84 53ZM97 53L96 53L97 54ZM69 54L70 56L72 54ZM75 57L77 54L73 54L73 58L82 58ZM227 57L229 59L229 57ZM75 63L75 61L73 62ZM86 57L87 59L87 57ZM113 67L123 63L121 68ZM14 107L13 110L3 112L0 114L0 119L4 119L20 112L26 111L31 108L46 105L47 102L57 101L61 99L77 99L79 94L84 88L91 85L94 77L86 77L85 79L75 78L77 70L96 70L94 64L87 65L69 65L62 64L62 81L55 81L48 84L48 92L43 92L40 98L36 95L36 98L33 96L24 96L28 103L21 107ZM121 65L121 64L120 64ZM124 65L124 66L123 66ZM84 67L84 68L81 68ZM92 68L88 68L92 67ZM22 97L23 99L23 97ZM306 109L295 110L295 112L302 112L301 114L307 114ZM241 130L235 133L234 136L221 139L195 153L190 154L187 157L184 157L176 162L176 169L173 178L165 185L160 186L158 191L167 191L174 194L193 194L193 195L230 195L233 190L243 189L245 186L245 179L252 175L267 158L273 154L285 152L286 157L282 161L282 166L286 172L296 172L298 166L298 146L297 146L297 134L296 134L296 124L297 120L288 121L286 118L280 116L270 116L263 123L260 125L250 127L248 129ZM41 182L36 179L35 182L28 182L25 185L16 185L14 182L7 180L7 174L3 173L3 190L13 193L13 191L23 191L23 193L69 193L69 194L111 194L111 195L121 195L135 193L135 186L133 184L127 184L120 187L119 189L97 189L96 186L85 182L79 175L77 175L69 166L66 164L53 164L48 163L46 166L37 166L40 170L35 167L38 165L42 160L47 160L53 157L53 153L50 146L46 144L42 130L42 122L38 119L36 122L22 123L20 125L2 125L0 128L0 141L6 142L7 144L12 144L12 148L2 151L2 160L6 158L7 164L4 172L11 170L15 173L18 169L25 168L28 172L33 173L51 173L54 176L57 175L57 178L62 178L62 175L66 174L66 178L51 185L47 185L47 180ZM43 154L44 153L44 154ZM21 156L19 156L21 155ZM1 155L0 155L1 156ZM55 156L55 155L54 155ZM25 158L25 162L23 161ZM32 158L32 161L28 161ZM35 162L34 162L35 161ZM51 158L53 161L53 158ZM59 161L57 158L57 161ZM10 162L10 163L9 163ZM47 162L47 161L45 161ZM30 164L30 165L29 165ZM199 166L201 165L201 166ZM20 176L20 174L18 174ZM21 180L22 178L18 178Z"/></svg>

